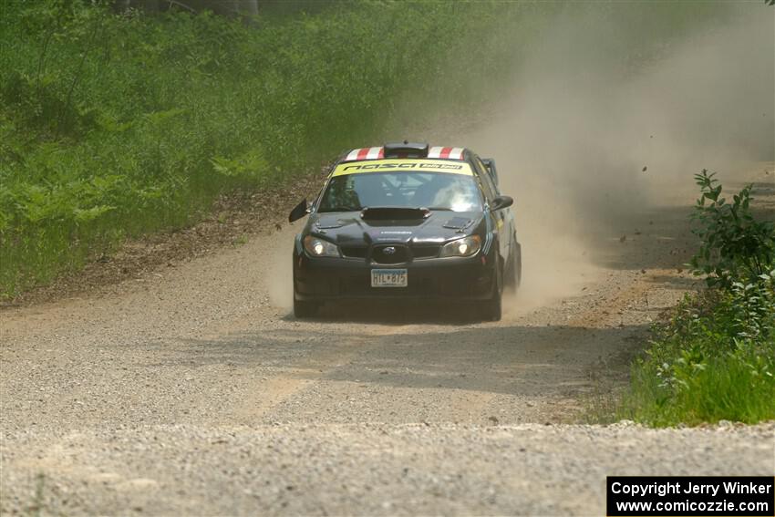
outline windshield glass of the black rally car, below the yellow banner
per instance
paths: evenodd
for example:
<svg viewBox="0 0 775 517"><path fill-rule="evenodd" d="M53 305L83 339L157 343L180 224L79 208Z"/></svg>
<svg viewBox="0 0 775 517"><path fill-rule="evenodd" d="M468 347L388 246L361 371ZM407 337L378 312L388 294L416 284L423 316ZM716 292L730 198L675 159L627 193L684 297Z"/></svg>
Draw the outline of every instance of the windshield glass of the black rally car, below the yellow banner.
<svg viewBox="0 0 775 517"><path fill-rule="evenodd" d="M329 181L318 212L354 212L387 206L473 212L481 210L481 196L473 177L461 174L412 171L347 174Z"/></svg>

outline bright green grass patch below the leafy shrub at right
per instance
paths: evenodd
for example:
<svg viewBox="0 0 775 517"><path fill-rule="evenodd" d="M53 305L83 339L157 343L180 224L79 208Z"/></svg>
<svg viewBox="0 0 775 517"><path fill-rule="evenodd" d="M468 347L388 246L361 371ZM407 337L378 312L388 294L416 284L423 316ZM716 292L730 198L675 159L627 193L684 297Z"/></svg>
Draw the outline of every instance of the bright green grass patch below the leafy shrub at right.
<svg viewBox="0 0 775 517"><path fill-rule="evenodd" d="M734 294L687 296L635 361L616 417L657 427L775 420L774 287L757 310Z"/></svg>

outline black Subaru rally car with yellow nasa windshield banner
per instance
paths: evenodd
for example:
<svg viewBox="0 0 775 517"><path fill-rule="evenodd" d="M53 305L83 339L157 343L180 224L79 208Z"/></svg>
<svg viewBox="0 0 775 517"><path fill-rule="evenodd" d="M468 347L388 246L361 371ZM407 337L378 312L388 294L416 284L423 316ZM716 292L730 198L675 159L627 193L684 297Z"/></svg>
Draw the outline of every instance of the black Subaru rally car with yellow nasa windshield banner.
<svg viewBox="0 0 775 517"><path fill-rule="evenodd" d="M357 298L473 302L501 318L504 289L522 273L520 243L494 160L425 143L356 149L323 190L294 244L294 315Z"/></svg>

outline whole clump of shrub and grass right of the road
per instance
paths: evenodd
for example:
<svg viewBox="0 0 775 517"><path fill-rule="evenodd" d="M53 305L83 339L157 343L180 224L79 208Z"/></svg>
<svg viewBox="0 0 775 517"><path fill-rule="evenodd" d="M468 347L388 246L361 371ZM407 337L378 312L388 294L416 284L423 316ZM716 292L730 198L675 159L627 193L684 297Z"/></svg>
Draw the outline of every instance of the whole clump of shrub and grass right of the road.
<svg viewBox="0 0 775 517"><path fill-rule="evenodd" d="M751 212L751 186L728 200L696 176L700 240L691 267L708 288L656 326L619 417L655 426L775 419L775 224Z"/></svg>

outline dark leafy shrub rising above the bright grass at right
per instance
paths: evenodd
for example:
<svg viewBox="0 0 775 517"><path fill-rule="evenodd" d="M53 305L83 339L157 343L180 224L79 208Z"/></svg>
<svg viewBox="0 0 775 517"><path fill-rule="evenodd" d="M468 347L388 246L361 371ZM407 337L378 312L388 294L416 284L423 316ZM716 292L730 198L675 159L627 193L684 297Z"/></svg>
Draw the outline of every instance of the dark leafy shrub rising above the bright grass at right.
<svg viewBox="0 0 775 517"><path fill-rule="evenodd" d="M696 274L708 275L709 286L729 289L736 279L756 284L775 269L775 223L757 221L750 212L751 185L729 203L714 175L702 171L695 176L702 195L695 207L693 233L700 247L690 264Z"/></svg>

